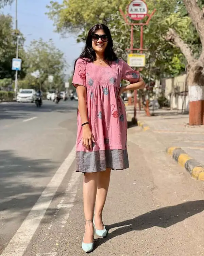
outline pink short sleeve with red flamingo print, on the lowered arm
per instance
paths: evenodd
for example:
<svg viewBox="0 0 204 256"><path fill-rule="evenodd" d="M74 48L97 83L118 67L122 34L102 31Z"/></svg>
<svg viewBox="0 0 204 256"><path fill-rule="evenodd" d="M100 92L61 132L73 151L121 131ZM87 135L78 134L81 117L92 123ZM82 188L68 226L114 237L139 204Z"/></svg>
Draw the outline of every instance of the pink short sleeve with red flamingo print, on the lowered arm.
<svg viewBox="0 0 204 256"><path fill-rule="evenodd" d="M78 59L76 62L72 84L74 87L76 85L86 87L86 61L83 59Z"/></svg>

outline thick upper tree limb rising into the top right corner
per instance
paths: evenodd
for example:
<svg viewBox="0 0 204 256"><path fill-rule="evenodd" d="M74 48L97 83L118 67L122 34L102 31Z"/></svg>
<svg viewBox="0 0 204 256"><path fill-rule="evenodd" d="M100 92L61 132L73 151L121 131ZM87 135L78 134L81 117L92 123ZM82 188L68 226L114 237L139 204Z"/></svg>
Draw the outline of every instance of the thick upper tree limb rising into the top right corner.
<svg viewBox="0 0 204 256"><path fill-rule="evenodd" d="M202 46L204 47L204 13L198 6L197 0L184 0L184 4L199 34Z"/></svg>

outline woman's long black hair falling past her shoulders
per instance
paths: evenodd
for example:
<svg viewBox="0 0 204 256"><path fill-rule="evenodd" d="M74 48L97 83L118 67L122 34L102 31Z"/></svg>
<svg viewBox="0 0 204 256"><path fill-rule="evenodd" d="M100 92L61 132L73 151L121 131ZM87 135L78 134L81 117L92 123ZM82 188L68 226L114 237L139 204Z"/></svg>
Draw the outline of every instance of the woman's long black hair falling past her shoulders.
<svg viewBox="0 0 204 256"><path fill-rule="evenodd" d="M95 53L94 49L92 48L92 34L95 34L96 31L98 31L100 29L103 30L104 33L108 37L108 44L107 44L107 46L105 48L105 52L104 52L104 60L106 60L107 62L111 62L111 61L118 59L113 50L113 40L111 37L111 32L106 25L101 24L101 23L96 24L92 28L90 28L90 30L88 32L87 39L86 39L85 48L84 48L83 52L81 53L81 55L79 56L79 58L85 59L88 62L93 62L96 60L96 53ZM77 60L75 60L74 68L75 68L76 62L77 62Z"/></svg>

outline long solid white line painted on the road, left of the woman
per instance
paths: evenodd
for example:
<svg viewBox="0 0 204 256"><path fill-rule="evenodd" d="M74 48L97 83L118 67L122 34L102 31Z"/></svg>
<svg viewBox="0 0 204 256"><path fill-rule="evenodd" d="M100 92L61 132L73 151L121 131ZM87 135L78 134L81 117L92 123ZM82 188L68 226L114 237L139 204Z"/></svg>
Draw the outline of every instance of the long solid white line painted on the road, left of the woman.
<svg viewBox="0 0 204 256"><path fill-rule="evenodd" d="M37 230L41 220L43 219L58 187L63 181L74 159L75 146L72 148L71 152L62 163L60 168L56 171L51 181L29 212L26 219L23 221L20 228L15 233L14 237L6 246L1 256L23 256L29 242L31 241L35 231ZM72 182L73 181L70 180L70 183Z"/></svg>

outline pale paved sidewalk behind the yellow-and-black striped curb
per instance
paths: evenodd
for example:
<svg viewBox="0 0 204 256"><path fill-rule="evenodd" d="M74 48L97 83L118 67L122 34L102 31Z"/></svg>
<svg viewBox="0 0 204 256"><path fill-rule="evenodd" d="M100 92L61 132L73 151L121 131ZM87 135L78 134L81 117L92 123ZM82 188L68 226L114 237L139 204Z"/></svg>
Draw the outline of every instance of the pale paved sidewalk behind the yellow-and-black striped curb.
<svg viewBox="0 0 204 256"><path fill-rule="evenodd" d="M128 117L133 116L133 106L126 107ZM150 110L152 113L152 110ZM147 117L145 111L137 111L137 119L150 127L164 147L181 147L188 155L204 165L204 126L189 126L188 115L176 111L155 110L155 116Z"/></svg>

